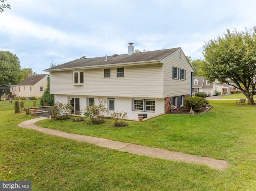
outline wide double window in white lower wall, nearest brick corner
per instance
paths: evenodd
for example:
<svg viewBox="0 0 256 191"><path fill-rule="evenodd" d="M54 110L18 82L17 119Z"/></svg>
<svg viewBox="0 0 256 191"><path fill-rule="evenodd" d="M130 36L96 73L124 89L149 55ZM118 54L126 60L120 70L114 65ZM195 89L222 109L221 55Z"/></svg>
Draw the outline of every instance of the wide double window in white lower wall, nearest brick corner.
<svg viewBox="0 0 256 191"><path fill-rule="evenodd" d="M146 99L133 99L133 110L154 112L156 110L156 101Z"/></svg>

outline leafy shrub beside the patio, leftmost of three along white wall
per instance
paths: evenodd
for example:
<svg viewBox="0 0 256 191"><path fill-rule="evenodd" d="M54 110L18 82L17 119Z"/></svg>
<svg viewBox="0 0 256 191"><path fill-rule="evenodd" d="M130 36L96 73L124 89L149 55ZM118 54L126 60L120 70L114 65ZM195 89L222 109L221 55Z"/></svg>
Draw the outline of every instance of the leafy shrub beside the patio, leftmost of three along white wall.
<svg viewBox="0 0 256 191"><path fill-rule="evenodd" d="M63 104L56 102L50 110L52 112L52 118L55 118L56 120L65 120L70 118L70 111L74 110L74 107L69 103Z"/></svg>

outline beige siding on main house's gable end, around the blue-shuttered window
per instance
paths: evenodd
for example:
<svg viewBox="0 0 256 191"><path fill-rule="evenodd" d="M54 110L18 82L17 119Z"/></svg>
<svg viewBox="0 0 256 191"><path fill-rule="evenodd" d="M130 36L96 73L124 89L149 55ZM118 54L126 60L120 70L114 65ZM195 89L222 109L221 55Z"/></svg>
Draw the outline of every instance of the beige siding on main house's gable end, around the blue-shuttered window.
<svg viewBox="0 0 256 191"><path fill-rule="evenodd" d="M191 90L191 67L180 50L163 60L164 63L164 97L188 95ZM172 67L186 70L186 80L172 79Z"/></svg>

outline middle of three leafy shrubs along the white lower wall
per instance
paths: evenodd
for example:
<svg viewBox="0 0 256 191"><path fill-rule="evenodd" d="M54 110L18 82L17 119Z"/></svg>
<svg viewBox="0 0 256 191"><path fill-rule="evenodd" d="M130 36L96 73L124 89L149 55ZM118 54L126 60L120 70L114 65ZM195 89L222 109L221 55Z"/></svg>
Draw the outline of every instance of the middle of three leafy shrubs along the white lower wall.
<svg viewBox="0 0 256 191"><path fill-rule="evenodd" d="M105 122L104 113L108 112L108 109L102 104L90 105L84 108L84 112L89 116L91 124L102 124Z"/></svg>

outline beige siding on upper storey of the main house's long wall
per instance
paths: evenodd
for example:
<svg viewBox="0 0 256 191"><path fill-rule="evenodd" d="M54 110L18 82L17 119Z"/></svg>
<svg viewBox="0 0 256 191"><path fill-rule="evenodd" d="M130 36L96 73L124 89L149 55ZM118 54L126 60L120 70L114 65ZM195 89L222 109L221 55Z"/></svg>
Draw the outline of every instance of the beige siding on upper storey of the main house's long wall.
<svg viewBox="0 0 256 191"><path fill-rule="evenodd" d="M156 64L126 66L124 77L116 77L116 67L111 67L110 78L104 78L103 71L104 68L85 69L85 85L80 86L72 85L72 71L51 72L50 93L138 98L163 96L162 67Z"/></svg>

